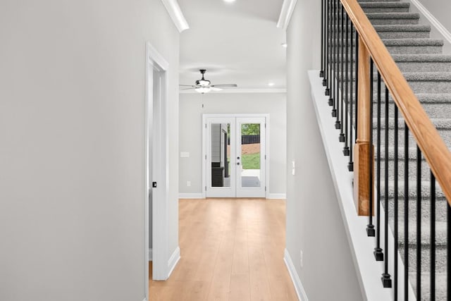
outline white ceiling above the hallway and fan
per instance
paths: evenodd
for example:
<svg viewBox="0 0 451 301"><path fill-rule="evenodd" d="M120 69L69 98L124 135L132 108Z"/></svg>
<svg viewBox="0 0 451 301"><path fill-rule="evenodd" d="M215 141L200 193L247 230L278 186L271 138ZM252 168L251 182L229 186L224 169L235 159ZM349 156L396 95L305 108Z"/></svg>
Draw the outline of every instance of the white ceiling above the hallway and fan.
<svg viewBox="0 0 451 301"><path fill-rule="evenodd" d="M283 0L178 3L190 25L180 35L180 84L193 85L202 68L213 85L285 89L285 30L276 27Z"/></svg>

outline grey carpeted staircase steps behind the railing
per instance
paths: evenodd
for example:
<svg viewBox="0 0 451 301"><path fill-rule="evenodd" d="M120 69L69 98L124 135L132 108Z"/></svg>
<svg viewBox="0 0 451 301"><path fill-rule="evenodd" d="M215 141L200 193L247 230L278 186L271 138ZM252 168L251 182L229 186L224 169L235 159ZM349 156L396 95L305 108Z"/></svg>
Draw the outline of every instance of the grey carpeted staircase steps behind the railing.
<svg viewBox="0 0 451 301"><path fill-rule="evenodd" d="M403 1L393 0L359 0L362 8L368 16L371 23L374 25L376 31L380 35L385 46L387 47L393 59L402 71L404 78L409 82L412 90L418 97L421 104L424 106L426 113L431 118L440 135L445 140L448 148L451 147L451 55L443 54L443 40L431 39L431 27L428 25L420 25L420 15L418 13L409 12L410 4ZM374 77L376 78L376 77ZM383 85L382 85L383 86ZM376 87L376 85L375 85ZM383 87L385 90L385 87ZM384 97L382 97L383 99ZM373 97L376 102L376 97ZM393 100L390 99L393 103ZM384 107L384 100L382 100L382 107ZM375 106L376 108L376 106ZM385 160L388 160L390 171L390 178L393 179L394 166L394 149L391 147L393 143L393 131L395 120L393 105L390 105L390 146L388 147L388 158L385 158L384 137L382 133L382 149L381 149L381 174L383 175L383 168ZM382 109L382 116L385 116ZM374 117L376 117L376 109L374 110ZM383 119L382 119L383 120ZM398 157L400 160L399 168L399 191L404 191L404 123L400 119L399 124L399 144L400 150ZM376 124L376 118L374 119ZM384 125L383 125L384 127ZM376 130L373 131L373 137L376 139ZM409 178L414 180L416 178L416 145L412 137L409 143ZM430 237L429 237L429 216L430 199L426 197L429 192L430 178L426 162L422 164L421 173L421 195L424 195L421 202L421 300L429 300L429 267L430 267ZM393 184L392 184L393 185ZM416 288L416 183L409 184L409 281L412 283L414 290ZM383 183L381 184L383 187ZM383 189L382 189L383 191ZM389 185L389 216L390 223L393 229L393 207L394 207L394 189ZM384 199L385 195L381 195ZM398 200L399 207L399 225L404 225L404 196ZM382 202L383 205L383 202ZM447 279L445 274L446 268L446 209L447 201L438 188L438 197L436 199L436 300L446 300L446 285ZM411 220L412 219L412 220ZM400 252L404 252L404 238L400 237ZM402 257L404 254L402 254Z"/></svg>

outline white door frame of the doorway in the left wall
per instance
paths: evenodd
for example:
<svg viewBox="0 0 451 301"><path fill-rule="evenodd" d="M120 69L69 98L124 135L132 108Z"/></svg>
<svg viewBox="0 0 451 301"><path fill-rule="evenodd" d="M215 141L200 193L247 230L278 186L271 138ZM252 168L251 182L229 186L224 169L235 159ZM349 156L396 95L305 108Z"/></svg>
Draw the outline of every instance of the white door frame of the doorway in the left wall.
<svg viewBox="0 0 451 301"><path fill-rule="evenodd" d="M149 257L152 254L152 278L168 278L168 68L166 59L150 42L146 43L146 87L145 87L145 130L144 130L144 178L146 208L144 237L145 287L149 300ZM159 91L154 97L154 72L159 73ZM154 112L154 107L156 112ZM154 118L156 120L154 120ZM152 141L149 134L152 133ZM152 142L152 161L149 161L149 142ZM152 170L149 163L152 162ZM151 182L157 183L152 188ZM152 195L152 250L149 250L149 197ZM158 229L158 231L156 231ZM150 253L150 254L149 254Z"/></svg>

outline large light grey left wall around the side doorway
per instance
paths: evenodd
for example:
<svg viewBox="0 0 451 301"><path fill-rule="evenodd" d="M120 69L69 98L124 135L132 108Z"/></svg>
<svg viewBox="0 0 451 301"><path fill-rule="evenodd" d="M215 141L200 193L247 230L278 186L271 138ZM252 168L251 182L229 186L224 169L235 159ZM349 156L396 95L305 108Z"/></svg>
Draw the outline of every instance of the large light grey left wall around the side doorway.
<svg viewBox="0 0 451 301"><path fill-rule="evenodd" d="M178 240L178 32L159 0L0 4L0 300L144 299L144 63L170 63Z"/></svg>

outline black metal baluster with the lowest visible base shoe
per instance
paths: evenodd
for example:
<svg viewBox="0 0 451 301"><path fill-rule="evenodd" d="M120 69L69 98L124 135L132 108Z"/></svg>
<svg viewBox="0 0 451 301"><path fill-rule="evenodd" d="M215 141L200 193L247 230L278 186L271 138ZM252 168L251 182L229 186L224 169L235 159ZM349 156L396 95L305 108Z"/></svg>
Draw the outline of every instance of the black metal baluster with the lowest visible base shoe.
<svg viewBox="0 0 451 301"><path fill-rule="evenodd" d="M385 227L384 227L384 248L388 250L388 89L385 86ZM382 284L384 288L392 287L392 280L390 274L388 274L388 256L385 256L384 260L384 273L382 274Z"/></svg>

